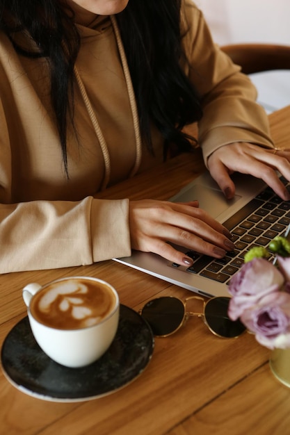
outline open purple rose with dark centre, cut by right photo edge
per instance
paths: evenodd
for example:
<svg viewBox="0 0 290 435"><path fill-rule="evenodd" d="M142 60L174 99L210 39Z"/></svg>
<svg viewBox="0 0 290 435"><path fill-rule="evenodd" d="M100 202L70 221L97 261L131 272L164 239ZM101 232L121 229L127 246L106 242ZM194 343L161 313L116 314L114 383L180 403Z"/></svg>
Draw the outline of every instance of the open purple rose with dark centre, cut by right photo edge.
<svg viewBox="0 0 290 435"><path fill-rule="evenodd" d="M269 349L290 347L290 294L271 293L243 311L241 322Z"/></svg>

